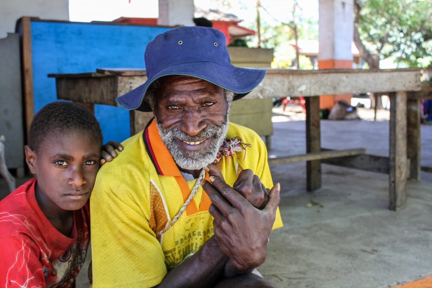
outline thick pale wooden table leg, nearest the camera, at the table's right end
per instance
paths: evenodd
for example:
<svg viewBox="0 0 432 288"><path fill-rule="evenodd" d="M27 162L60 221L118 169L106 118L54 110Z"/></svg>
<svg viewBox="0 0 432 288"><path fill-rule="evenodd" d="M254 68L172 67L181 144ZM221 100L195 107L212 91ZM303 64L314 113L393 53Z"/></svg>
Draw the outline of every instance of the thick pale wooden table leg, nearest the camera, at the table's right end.
<svg viewBox="0 0 432 288"><path fill-rule="evenodd" d="M406 201L406 92L390 93L389 209L404 207Z"/></svg>

